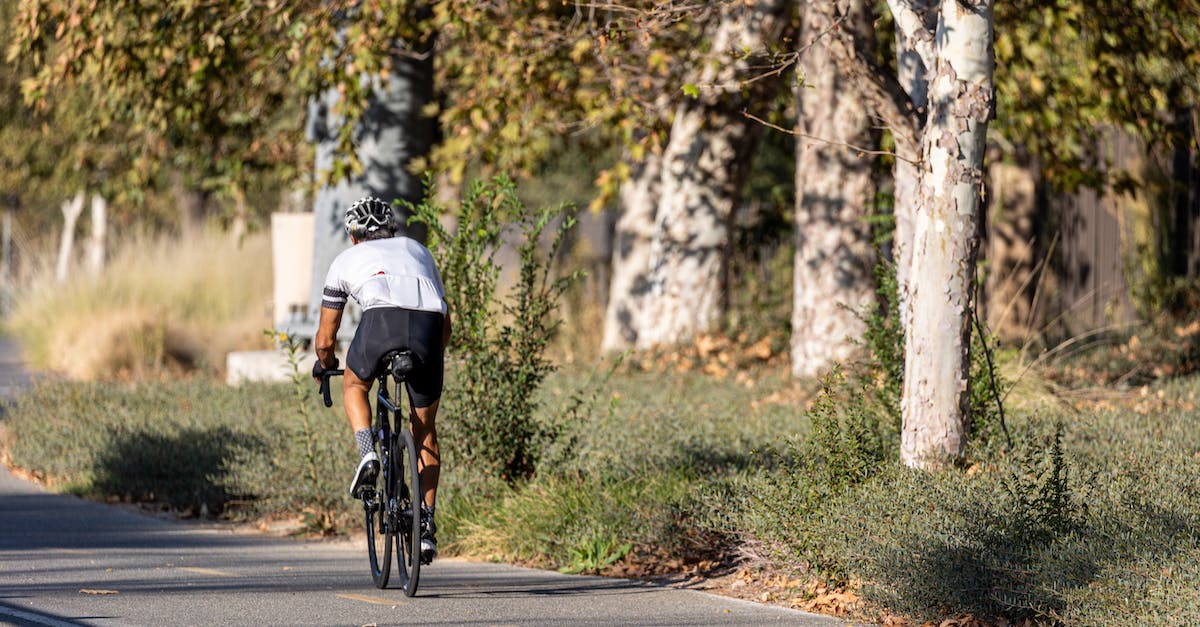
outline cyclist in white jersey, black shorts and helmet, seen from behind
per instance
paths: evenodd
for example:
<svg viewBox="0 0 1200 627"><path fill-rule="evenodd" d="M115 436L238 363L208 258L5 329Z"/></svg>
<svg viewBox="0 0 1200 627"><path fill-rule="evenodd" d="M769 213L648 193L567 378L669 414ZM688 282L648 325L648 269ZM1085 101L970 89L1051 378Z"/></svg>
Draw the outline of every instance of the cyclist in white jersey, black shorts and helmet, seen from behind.
<svg viewBox="0 0 1200 627"><path fill-rule="evenodd" d="M421 460L421 561L427 563L437 556L433 512L440 453L434 418L442 398L443 356L450 341L445 287L433 255L421 243L398 233L396 216L383 201L367 196L352 204L346 210L346 232L350 247L334 259L325 277L312 376L319 380L326 369L337 368L335 339L347 298L353 298L362 307L362 318L346 352L343 402L361 454L350 482L350 495L358 497L379 473L367 401L379 360L398 348L415 356L408 395L413 440Z"/></svg>

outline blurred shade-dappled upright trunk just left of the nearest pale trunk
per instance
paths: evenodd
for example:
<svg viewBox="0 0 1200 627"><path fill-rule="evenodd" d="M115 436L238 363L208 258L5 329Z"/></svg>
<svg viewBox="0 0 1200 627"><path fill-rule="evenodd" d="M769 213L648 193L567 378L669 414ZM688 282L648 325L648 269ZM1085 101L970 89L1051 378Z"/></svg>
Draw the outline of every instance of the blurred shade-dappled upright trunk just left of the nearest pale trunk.
<svg viewBox="0 0 1200 627"><path fill-rule="evenodd" d="M870 12L853 0L842 28L870 36ZM796 259L792 295L792 374L815 376L854 351L860 315L874 301L875 252L869 203L874 160L853 147L874 147L871 120L854 82L822 41L829 16L805 5L800 46L804 84L797 86ZM848 144L848 145L847 145Z"/></svg>

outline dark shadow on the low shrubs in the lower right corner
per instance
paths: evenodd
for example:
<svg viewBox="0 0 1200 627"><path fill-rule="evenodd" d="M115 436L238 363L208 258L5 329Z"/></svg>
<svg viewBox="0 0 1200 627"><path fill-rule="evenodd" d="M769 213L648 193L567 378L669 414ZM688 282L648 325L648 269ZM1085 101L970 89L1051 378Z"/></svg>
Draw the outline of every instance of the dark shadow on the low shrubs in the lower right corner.
<svg viewBox="0 0 1200 627"><path fill-rule="evenodd" d="M872 596L923 619L953 613L1074 622L1081 595L1144 593L1145 574L1132 566L1160 565L1200 542L1188 515L1153 506L1087 514L1057 531L976 506L973 514L948 512L868 543L876 551ZM1114 580L1114 573L1124 574Z"/></svg>

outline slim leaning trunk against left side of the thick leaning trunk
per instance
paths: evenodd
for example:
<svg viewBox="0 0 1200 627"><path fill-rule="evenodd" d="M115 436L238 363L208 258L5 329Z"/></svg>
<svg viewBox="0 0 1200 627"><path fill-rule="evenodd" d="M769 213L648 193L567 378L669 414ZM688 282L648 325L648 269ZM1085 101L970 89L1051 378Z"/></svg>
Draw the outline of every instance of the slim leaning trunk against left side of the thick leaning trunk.
<svg viewBox="0 0 1200 627"><path fill-rule="evenodd" d="M620 186L624 208L617 220L612 247L612 282L605 307L601 351L624 351L637 342L640 316L647 295L650 244L654 240L654 210L662 184L662 157L647 151L641 163L632 163L629 180Z"/></svg>

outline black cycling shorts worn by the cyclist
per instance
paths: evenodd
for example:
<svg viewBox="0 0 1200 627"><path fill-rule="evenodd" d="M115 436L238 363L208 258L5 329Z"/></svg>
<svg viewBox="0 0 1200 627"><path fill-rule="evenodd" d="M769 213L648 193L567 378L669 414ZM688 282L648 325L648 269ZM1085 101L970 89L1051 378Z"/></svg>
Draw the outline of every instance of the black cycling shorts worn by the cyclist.
<svg viewBox="0 0 1200 627"><path fill-rule="evenodd" d="M376 307L362 312L354 340L346 351L346 368L359 378L372 382L391 351L412 351L416 369L408 376L408 394L415 407L428 407L442 398L443 317L438 311L400 307Z"/></svg>

